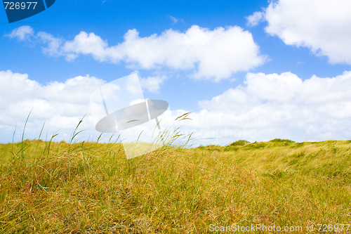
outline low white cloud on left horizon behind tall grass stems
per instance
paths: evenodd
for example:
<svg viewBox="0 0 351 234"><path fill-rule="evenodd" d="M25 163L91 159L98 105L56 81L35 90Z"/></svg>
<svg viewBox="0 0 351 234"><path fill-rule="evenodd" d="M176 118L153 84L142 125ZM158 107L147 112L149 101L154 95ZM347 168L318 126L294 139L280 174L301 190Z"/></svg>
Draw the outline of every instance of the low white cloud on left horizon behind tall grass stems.
<svg viewBox="0 0 351 234"><path fill-rule="evenodd" d="M44 122L51 134L55 131L61 131L66 136L72 134L72 129L89 110L91 93L105 84L102 79L86 75L67 79L63 83L41 85L29 79L27 74L11 70L0 71L0 82L0 140L3 143L11 141L15 122L20 129L31 110L26 128L28 138L37 137ZM82 126L92 129L91 123L92 119L88 116Z"/></svg>

